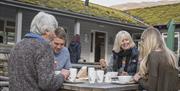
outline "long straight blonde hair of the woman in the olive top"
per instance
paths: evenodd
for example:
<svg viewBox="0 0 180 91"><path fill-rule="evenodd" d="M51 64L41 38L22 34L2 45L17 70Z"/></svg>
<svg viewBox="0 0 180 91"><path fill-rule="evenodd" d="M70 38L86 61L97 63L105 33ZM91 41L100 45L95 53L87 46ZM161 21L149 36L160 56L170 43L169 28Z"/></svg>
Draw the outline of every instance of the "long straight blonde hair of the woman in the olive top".
<svg viewBox="0 0 180 91"><path fill-rule="evenodd" d="M178 69L177 58L173 51L167 48L161 33L158 29L154 27L147 28L141 35L142 42L140 43L140 58L142 58L139 73L141 76L145 77L147 75L147 61L149 54L156 49L161 49L166 52L168 57L168 63Z"/></svg>

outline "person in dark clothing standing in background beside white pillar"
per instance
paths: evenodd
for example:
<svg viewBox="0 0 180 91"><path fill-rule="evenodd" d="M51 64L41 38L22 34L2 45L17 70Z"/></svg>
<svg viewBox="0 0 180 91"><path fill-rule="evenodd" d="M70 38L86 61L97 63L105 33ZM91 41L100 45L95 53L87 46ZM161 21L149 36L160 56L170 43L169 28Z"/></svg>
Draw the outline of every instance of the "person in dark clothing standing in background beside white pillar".
<svg viewBox="0 0 180 91"><path fill-rule="evenodd" d="M81 43L79 34L76 34L73 37L68 49L70 52L71 63L78 63L78 60L81 56Z"/></svg>

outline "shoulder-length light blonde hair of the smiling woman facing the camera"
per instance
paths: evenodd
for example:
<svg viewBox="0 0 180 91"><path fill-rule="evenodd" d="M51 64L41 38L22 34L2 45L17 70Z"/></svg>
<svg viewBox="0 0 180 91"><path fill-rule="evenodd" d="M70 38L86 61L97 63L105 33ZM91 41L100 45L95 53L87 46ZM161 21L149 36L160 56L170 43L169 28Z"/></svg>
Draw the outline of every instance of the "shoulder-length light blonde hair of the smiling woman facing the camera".
<svg viewBox="0 0 180 91"><path fill-rule="evenodd" d="M127 31L119 31L116 34L116 38L115 38L114 46L113 46L112 50L115 51L116 53L120 52L121 51L121 44L122 44L121 42L125 38L129 39L131 48L135 46L135 43L134 43L131 35Z"/></svg>

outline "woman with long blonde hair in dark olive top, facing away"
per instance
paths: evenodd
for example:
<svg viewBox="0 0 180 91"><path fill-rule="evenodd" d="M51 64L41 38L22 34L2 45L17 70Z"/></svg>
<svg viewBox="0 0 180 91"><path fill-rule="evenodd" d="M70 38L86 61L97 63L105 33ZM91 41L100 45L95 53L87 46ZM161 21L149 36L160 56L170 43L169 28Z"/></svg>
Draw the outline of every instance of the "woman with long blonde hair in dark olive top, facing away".
<svg viewBox="0 0 180 91"><path fill-rule="evenodd" d="M141 36L139 73L134 80L148 91L178 91L178 64L175 54L167 48L159 30L147 28Z"/></svg>

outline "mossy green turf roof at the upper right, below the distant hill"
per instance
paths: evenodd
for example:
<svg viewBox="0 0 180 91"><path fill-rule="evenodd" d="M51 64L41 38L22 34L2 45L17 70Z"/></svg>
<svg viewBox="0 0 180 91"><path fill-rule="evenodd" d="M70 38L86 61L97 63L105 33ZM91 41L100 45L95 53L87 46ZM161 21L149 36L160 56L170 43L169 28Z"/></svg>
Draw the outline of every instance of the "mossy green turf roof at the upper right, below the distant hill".
<svg viewBox="0 0 180 91"><path fill-rule="evenodd" d="M133 9L127 12L150 25L167 24L170 19L174 19L176 23L180 23L180 3Z"/></svg>

